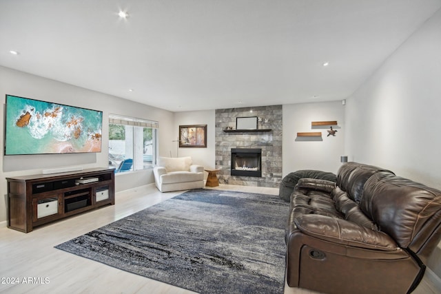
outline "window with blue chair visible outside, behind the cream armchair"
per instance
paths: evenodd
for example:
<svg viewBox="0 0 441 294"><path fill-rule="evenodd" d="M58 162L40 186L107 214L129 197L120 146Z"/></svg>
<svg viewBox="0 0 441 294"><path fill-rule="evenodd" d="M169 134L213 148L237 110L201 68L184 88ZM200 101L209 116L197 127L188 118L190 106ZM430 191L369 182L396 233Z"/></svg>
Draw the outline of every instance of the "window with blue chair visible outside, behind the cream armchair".
<svg viewBox="0 0 441 294"><path fill-rule="evenodd" d="M116 173L149 169L156 163L158 122L109 116L109 166Z"/></svg>

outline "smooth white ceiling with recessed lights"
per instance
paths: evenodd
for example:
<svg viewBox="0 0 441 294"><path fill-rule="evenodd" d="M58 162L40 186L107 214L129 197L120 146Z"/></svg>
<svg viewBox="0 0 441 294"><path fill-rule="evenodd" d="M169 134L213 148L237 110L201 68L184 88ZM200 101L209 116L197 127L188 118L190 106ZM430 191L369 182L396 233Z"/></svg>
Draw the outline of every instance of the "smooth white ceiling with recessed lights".
<svg viewBox="0 0 441 294"><path fill-rule="evenodd" d="M0 65L173 112L336 101L440 7L441 0L0 0Z"/></svg>

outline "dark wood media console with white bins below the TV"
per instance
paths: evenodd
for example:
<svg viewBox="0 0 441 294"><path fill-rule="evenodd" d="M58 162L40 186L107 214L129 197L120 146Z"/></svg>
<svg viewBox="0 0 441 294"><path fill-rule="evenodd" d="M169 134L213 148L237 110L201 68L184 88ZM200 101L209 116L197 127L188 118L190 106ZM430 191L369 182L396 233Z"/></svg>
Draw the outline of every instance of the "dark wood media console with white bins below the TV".
<svg viewBox="0 0 441 294"><path fill-rule="evenodd" d="M40 224L115 204L114 177L114 169L94 168L6 178L8 228L28 233ZM95 181L77 183L81 178Z"/></svg>

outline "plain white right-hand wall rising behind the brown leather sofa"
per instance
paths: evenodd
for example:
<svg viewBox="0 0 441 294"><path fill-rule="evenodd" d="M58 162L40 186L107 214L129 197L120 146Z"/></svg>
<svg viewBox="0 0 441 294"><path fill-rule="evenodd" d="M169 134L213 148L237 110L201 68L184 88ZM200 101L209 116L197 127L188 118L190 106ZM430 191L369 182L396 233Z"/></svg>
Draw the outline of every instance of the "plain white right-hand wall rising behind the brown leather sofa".
<svg viewBox="0 0 441 294"><path fill-rule="evenodd" d="M347 99L349 159L441 189L441 10Z"/></svg>

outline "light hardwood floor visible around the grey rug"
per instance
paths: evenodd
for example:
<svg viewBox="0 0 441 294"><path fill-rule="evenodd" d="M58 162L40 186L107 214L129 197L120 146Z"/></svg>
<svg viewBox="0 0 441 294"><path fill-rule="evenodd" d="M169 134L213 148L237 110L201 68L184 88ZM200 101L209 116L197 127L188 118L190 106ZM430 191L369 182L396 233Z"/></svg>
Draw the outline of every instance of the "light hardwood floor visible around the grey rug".
<svg viewBox="0 0 441 294"><path fill-rule="evenodd" d="M220 185L220 187L213 189L278 194L278 189L264 187ZM160 193L154 185L148 185L116 193L115 205L37 227L27 234L1 228L0 292L193 293L54 249L57 244L129 216L179 193L182 191ZM289 293L311 294L316 292L285 286L285 294ZM424 279L414 293L430 294L439 293L439 291L427 279Z"/></svg>

